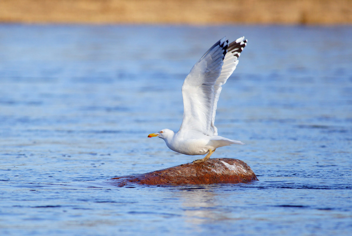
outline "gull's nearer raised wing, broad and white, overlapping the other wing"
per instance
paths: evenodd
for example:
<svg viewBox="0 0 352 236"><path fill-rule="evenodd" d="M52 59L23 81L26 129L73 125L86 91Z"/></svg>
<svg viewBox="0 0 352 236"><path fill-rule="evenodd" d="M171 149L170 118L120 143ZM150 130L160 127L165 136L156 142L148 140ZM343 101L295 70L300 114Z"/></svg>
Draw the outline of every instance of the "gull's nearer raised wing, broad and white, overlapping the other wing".
<svg viewBox="0 0 352 236"><path fill-rule="evenodd" d="M179 132L199 131L213 136L214 86L221 74L228 40L222 38L192 67L182 85L183 120Z"/></svg>

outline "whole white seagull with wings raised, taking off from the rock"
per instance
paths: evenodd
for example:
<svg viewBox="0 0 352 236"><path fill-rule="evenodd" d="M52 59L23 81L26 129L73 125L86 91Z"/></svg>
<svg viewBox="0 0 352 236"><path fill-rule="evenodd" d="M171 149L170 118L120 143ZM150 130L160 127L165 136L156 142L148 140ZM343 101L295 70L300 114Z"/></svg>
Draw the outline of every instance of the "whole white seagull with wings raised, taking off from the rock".
<svg viewBox="0 0 352 236"><path fill-rule="evenodd" d="M183 120L178 132L162 129L149 134L148 138L162 138L169 149L182 154L207 154L193 163L207 161L218 147L244 144L219 136L214 121L221 86L235 70L246 45L244 37L231 43L226 37L216 42L195 63L183 82Z"/></svg>

